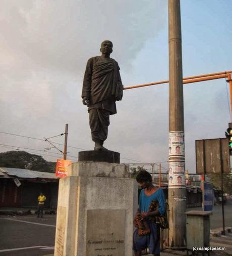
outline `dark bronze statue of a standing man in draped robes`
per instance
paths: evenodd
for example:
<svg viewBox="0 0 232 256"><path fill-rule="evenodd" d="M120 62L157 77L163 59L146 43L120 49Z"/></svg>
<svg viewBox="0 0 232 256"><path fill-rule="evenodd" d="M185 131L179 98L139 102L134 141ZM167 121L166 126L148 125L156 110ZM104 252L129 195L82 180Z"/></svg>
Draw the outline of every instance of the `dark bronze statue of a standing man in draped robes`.
<svg viewBox="0 0 232 256"><path fill-rule="evenodd" d="M109 57L112 48L111 41L103 41L101 56L88 60L84 75L81 97L83 104L88 106L94 150L107 150L103 143L108 134L109 115L117 113L115 101L123 98L119 64Z"/></svg>

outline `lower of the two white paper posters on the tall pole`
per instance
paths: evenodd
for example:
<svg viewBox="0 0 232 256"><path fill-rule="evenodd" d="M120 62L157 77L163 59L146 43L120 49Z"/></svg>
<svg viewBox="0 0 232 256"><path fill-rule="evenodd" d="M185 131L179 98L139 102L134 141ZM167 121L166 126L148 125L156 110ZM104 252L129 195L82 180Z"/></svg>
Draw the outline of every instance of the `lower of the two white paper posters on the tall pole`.
<svg viewBox="0 0 232 256"><path fill-rule="evenodd" d="M169 180L168 186L181 187L186 185L185 162L169 161Z"/></svg>

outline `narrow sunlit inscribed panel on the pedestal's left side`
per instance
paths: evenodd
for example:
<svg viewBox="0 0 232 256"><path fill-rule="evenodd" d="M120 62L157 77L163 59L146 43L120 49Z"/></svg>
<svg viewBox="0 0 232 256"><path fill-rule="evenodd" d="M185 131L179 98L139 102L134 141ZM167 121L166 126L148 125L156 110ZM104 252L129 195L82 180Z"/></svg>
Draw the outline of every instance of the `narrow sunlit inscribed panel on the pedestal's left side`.
<svg viewBox="0 0 232 256"><path fill-rule="evenodd" d="M63 256L64 243L65 243L65 220L66 220L66 207L58 206L57 208L57 221L56 221L56 234L55 234L55 255Z"/></svg>

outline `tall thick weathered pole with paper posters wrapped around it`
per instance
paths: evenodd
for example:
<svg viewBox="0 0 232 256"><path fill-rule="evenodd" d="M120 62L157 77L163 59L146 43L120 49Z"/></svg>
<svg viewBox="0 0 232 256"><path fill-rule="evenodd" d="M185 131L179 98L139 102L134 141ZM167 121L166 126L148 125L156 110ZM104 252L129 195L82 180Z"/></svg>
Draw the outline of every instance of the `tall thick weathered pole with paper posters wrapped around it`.
<svg viewBox="0 0 232 256"><path fill-rule="evenodd" d="M186 184L180 0L168 0L169 43L169 246L185 243Z"/></svg>

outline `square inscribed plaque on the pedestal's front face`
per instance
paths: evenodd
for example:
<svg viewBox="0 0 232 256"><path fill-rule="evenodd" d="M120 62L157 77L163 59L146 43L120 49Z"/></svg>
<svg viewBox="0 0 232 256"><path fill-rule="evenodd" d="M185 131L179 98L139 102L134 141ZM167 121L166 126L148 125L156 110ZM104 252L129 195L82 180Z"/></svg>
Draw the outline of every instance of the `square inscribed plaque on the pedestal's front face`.
<svg viewBox="0 0 232 256"><path fill-rule="evenodd" d="M125 209L87 210L86 256L125 256Z"/></svg>

